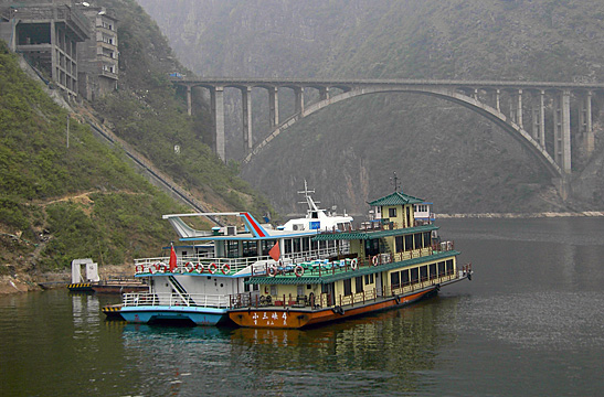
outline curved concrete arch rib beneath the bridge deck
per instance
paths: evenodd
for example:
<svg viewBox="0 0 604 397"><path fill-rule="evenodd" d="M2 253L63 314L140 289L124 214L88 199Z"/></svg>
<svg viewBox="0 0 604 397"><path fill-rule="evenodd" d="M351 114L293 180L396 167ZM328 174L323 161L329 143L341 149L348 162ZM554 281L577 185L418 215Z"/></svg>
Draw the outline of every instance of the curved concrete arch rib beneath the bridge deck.
<svg viewBox="0 0 604 397"><path fill-rule="evenodd" d="M474 89L474 88L473 88ZM297 121L306 118L329 105L350 99L353 97L371 94L382 94L382 93L411 93L411 94L421 94L428 95L437 98L442 98L454 104L460 105L469 110L473 110L480 116L492 121L495 125L501 127L506 132L508 132L512 138L519 141L528 151L537 158L548 170L552 178L562 178L564 171L562 168L555 163L552 157L545 151L545 149L531 137L521 126L513 122L509 117L507 117L500 109L494 108L475 97L468 96L460 93L455 88L444 88L444 87L389 87L389 86L375 86L375 87L360 87L352 88L350 90L343 92L339 95L321 99L315 104L311 104L294 114L293 116L285 119L278 126L273 128L273 131L264 138L258 144L256 144L250 153L243 160L244 163L248 163L253 157L258 154L273 139L275 139L283 131L295 125Z"/></svg>

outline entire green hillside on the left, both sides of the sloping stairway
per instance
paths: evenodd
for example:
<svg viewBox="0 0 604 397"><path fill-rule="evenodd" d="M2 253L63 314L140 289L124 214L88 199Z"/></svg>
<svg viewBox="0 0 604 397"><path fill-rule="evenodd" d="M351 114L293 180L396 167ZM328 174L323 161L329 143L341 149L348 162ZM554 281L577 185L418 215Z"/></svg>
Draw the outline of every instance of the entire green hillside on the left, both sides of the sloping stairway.
<svg viewBox="0 0 604 397"><path fill-rule="evenodd" d="M119 15L119 89L93 105L105 127L210 210L271 212L267 201L209 148L208 115L187 116L167 79L182 69L149 17L129 0ZM176 235L162 214L190 212L95 138L85 106L70 117L0 41L0 276L63 269L91 257L123 265L158 256ZM86 116L89 117L89 116ZM80 120L80 121L78 121ZM181 147L180 153L174 146Z"/></svg>

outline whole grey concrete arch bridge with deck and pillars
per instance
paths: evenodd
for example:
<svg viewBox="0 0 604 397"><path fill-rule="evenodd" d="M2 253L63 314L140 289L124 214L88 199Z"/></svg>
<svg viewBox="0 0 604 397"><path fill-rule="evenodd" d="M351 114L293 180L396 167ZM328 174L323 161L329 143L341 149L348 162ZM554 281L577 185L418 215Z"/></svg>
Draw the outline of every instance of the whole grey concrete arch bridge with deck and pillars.
<svg viewBox="0 0 604 397"><path fill-rule="evenodd" d="M424 79L294 79L294 78L172 78L187 89L188 111L192 111L191 89L210 90L215 151L224 160L224 88L242 94L244 162L263 150L282 131L329 105L361 95L413 93L438 97L462 105L495 122L522 143L550 172L564 181L572 171L571 133L589 155L594 150L592 105L604 94L604 84L554 82L424 81ZM252 88L268 93L271 132L256 146L252 139ZM294 114L279 120L279 89L294 92ZM318 92L318 100L305 105L305 92ZM316 96L316 95L315 95ZM572 110L571 110L572 108ZM547 131L548 112L550 130ZM571 114L576 120L571 122ZM576 116L575 116L576 115ZM550 119L551 118L551 119ZM571 126L573 130L571 131ZM545 146L545 135L553 147Z"/></svg>

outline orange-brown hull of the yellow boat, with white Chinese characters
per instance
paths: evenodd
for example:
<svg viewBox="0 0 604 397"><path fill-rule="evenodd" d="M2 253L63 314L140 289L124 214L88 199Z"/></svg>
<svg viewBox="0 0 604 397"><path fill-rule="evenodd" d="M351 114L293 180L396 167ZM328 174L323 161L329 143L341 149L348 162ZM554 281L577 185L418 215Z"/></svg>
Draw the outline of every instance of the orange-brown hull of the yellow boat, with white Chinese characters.
<svg viewBox="0 0 604 397"><path fill-rule="evenodd" d="M240 326L300 329L407 305L421 299L434 296L437 292L438 288L434 287L406 296L379 299L374 302L364 304L332 307L321 310L295 308L239 309L231 311L229 316Z"/></svg>

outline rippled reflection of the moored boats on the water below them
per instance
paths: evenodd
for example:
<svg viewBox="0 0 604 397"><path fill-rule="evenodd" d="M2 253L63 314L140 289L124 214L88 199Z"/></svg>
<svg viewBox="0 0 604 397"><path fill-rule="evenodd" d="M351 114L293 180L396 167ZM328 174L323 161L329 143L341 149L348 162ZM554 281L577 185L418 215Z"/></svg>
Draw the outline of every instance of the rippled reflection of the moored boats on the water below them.
<svg viewBox="0 0 604 397"><path fill-rule="evenodd" d="M133 369L155 374L142 394L187 395L216 382L227 395L413 391L455 342L441 323L455 321L457 305L457 298L436 298L301 331L128 324L123 339L127 354L140 356Z"/></svg>

